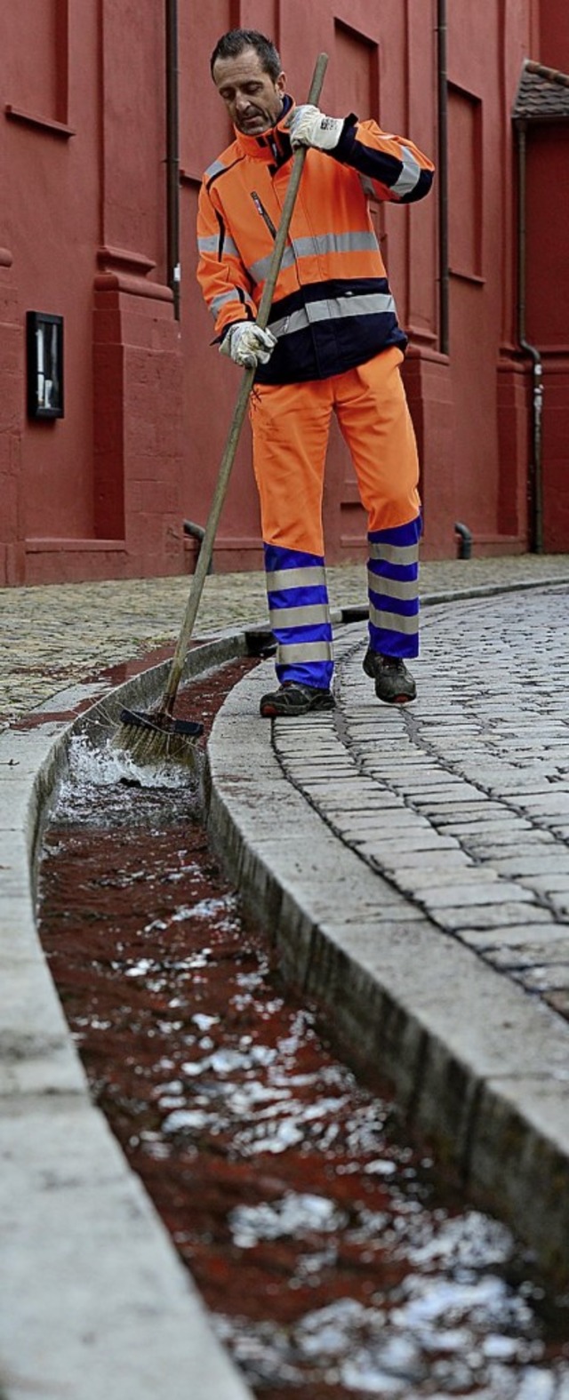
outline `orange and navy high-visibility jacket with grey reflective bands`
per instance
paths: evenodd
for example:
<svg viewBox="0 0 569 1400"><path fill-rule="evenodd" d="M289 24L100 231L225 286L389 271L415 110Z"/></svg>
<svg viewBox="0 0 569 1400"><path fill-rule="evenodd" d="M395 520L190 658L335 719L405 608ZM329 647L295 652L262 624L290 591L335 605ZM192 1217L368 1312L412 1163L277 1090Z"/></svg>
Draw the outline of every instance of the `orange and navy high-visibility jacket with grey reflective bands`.
<svg viewBox="0 0 569 1400"><path fill-rule="evenodd" d="M290 176L284 98L279 123L237 140L206 171L198 207L198 280L217 337L254 319ZM412 141L348 116L338 147L308 150L269 328L277 337L262 384L328 378L387 346L406 344L397 321L369 199L408 204L430 189L433 165Z"/></svg>

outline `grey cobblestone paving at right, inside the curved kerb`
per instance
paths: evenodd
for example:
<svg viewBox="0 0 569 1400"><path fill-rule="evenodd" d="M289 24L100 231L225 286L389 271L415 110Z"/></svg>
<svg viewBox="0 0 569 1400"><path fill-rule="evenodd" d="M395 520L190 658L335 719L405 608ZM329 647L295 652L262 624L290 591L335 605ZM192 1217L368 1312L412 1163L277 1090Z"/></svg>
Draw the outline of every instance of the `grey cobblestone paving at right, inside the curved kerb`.
<svg viewBox="0 0 569 1400"><path fill-rule="evenodd" d="M568 636L568 585L430 609L418 703L381 707L381 729L357 643L339 704L378 820L334 818L441 930L566 1018Z"/></svg>

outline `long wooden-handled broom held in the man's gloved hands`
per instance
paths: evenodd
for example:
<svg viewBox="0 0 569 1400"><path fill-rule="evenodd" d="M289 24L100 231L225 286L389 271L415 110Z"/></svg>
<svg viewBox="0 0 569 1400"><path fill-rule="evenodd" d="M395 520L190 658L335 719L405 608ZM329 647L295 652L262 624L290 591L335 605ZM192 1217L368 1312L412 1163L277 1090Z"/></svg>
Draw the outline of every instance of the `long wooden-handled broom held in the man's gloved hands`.
<svg viewBox="0 0 569 1400"><path fill-rule="evenodd" d="M328 67L328 55L320 53L314 67L313 81L310 84L310 92L307 99L314 106L318 105L327 67ZM304 158L306 158L306 147L301 147L299 151L296 151L293 158L293 168L290 172L287 190L284 195L279 228L276 231L275 249L270 260L270 267L268 272L263 294L256 315L256 325L261 326L263 330L266 329L266 323L269 319L270 305L275 294L275 286L280 272L284 244L289 235L290 220L293 216L293 209L299 193ZM188 655L189 641L192 637L193 623L196 620L198 608L203 592L203 584L212 561L217 524L226 500L227 486L231 475L231 468L235 459L237 445L240 441L240 434L245 419L247 405L249 400L254 378L255 378L255 370L254 368L245 370L241 389L233 412L231 426L228 430L227 442L219 469L212 507L203 532L202 546L199 550L196 568L192 577L192 587L186 609L184 613L184 622L174 651L174 657L171 661L168 683L163 700L156 710L143 711L143 710L125 708L121 711L121 725L115 735L114 745L115 748L126 750L135 760L135 763L144 764L144 763L161 763L164 760L174 760L177 763L186 763L191 767L193 767L195 764L195 743L199 735L203 734L203 725L192 720L177 720L172 711L178 694L179 682L182 679L182 672Z"/></svg>

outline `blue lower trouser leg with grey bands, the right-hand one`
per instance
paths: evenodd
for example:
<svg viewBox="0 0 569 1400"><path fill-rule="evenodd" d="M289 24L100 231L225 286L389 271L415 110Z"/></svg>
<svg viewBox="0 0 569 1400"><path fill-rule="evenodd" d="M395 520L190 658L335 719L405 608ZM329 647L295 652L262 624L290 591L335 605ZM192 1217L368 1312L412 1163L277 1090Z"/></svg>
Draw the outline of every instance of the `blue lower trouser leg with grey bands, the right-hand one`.
<svg viewBox="0 0 569 1400"><path fill-rule="evenodd" d="M420 515L367 536L370 647L384 657L419 654Z"/></svg>

